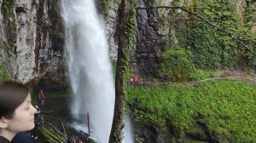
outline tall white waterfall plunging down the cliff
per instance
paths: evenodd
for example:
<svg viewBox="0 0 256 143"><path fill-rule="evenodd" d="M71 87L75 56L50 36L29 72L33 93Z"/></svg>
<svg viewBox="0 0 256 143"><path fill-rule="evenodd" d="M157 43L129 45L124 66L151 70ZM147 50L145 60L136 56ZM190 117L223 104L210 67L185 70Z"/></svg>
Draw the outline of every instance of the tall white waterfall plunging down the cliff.
<svg viewBox="0 0 256 143"><path fill-rule="evenodd" d="M90 134L107 143L115 93L103 22L96 14L94 0L62 0L61 16L73 89L73 127L87 132L84 125L89 112Z"/></svg>

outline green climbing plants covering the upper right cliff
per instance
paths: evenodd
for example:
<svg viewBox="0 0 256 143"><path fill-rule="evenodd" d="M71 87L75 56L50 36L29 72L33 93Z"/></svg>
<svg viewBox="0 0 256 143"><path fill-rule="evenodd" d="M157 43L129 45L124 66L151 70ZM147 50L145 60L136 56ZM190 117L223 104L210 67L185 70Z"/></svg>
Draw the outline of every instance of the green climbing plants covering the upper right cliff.
<svg viewBox="0 0 256 143"><path fill-rule="evenodd" d="M178 1L174 1L178 3ZM255 67L252 10L245 11L245 20L239 19L236 1L201 0L187 4L186 9L201 15L216 27L187 13L172 13L171 26L176 29L177 41L194 54L195 67L205 70L231 69L239 60L248 61L247 66ZM185 19L183 18L185 17ZM247 46L246 49L241 43Z"/></svg>

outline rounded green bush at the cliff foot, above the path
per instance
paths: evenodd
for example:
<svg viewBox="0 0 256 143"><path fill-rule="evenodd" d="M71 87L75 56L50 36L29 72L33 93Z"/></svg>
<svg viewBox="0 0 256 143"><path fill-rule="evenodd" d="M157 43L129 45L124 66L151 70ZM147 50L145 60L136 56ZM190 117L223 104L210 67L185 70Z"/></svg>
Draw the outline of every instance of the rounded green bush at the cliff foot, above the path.
<svg viewBox="0 0 256 143"><path fill-rule="evenodd" d="M179 46L166 49L163 54L163 62L160 64L158 75L164 80L185 82L194 71L192 54Z"/></svg>

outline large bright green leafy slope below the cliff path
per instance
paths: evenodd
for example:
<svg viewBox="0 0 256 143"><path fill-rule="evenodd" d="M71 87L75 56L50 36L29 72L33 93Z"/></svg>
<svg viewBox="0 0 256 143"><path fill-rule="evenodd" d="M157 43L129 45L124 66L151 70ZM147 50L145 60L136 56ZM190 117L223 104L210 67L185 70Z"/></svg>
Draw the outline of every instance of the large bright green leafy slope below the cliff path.
<svg viewBox="0 0 256 143"><path fill-rule="evenodd" d="M158 134L174 131L209 134L221 142L253 142L256 139L256 86L234 81L199 83L195 86L127 87L128 103L136 122Z"/></svg>

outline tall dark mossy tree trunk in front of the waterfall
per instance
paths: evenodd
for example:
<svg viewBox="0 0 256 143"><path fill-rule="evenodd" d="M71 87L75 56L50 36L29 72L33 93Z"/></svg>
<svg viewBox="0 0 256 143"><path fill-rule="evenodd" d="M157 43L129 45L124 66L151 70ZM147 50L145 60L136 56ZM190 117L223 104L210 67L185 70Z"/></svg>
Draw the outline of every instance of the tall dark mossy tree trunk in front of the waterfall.
<svg viewBox="0 0 256 143"><path fill-rule="evenodd" d="M113 113L113 124L112 130L109 137L109 143L120 143L122 142L122 129L124 128L123 118L125 110L125 94L124 94L124 77L125 68L127 66L128 55L125 54L125 49L129 47L128 38L126 35L127 26L126 24L131 19L131 7L129 0L122 0L119 8L119 23L118 23L118 37L119 37L119 49L118 59L116 67L115 77L115 105Z"/></svg>

